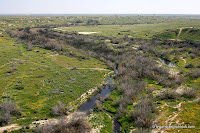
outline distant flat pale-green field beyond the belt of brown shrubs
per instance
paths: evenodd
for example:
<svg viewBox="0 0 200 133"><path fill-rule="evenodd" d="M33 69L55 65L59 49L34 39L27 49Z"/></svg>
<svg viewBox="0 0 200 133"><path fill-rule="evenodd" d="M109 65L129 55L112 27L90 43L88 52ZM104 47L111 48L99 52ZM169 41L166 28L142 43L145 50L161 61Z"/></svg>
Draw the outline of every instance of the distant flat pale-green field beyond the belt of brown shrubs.
<svg viewBox="0 0 200 133"><path fill-rule="evenodd" d="M98 26L72 26L72 27L59 27L56 28L62 32L97 32L91 34L93 36L106 36L106 37L137 37L144 39L151 39L155 35L166 32L169 29L179 29L181 27L195 27L199 28L200 23L197 20L194 21L176 21L159 24L135 24L135 25L98 25ZM172 36L170 39L174 39Z"/></svg>

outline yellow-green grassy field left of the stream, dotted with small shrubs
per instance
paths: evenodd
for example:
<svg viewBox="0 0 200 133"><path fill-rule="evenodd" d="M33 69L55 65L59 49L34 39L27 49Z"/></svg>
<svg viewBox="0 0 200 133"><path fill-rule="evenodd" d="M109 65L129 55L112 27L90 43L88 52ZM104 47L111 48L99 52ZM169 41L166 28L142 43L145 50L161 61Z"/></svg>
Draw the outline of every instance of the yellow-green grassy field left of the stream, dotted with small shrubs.
<svg viewBox="0 0 200 133"><path fill-rule="evenodd" d="M52 117L50 109L57 101L69 107L109 72L94 58L80 61L41 48L27 51L10 37L0 38L0 68L0 99L17 104L22 117L13 123L22 125Z"/></svg>

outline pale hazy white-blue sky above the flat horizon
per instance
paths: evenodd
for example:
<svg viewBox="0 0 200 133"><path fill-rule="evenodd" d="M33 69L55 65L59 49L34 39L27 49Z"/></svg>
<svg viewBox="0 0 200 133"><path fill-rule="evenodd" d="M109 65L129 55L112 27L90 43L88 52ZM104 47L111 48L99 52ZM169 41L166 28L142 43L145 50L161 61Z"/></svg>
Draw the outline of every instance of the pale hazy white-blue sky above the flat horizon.
<svg viewBox="0 0 200 133"><path fill-rule="evenodd" d="M200 0L0 0L0 14L200 14Z"/></svg>

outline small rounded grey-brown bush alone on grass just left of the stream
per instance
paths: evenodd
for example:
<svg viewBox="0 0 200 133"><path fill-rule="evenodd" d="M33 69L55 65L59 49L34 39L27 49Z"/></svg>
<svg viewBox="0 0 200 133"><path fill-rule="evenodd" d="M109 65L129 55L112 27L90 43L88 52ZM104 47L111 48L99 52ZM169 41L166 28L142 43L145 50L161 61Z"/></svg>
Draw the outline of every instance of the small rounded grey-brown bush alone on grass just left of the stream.
<svg viewBox="0 0 200 133"><path fill-rule="evenodd" d="M67 109L65 108L65 105L58 101L58 105L52 107L51 112L53 115L56 116L63 116L67 114Z"/></svg>

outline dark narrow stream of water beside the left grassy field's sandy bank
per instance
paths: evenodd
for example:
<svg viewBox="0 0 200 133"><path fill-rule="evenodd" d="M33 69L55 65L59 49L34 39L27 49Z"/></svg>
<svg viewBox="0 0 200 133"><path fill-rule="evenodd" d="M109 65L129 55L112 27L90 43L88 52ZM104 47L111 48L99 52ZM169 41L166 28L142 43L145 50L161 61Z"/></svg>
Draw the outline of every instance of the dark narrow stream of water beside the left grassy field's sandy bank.
<svg viewBox="0 0 200 133"><path fill-rule="evenodd" d="M115 70L115 73L117 73L118 71ZM80 108L78 109L78 112L84 112L86 113L87 115L90 114L90 111L93 110L96 105L95 105L95 101L96 100L99 100L99 99L104 99L106 98L106 96L108 96L112 90L114 89L113 88L113 84L114 82L112 81L112 75L110 77L108 77L107 79L107 84L102 87L100 89L100 91L95 94L92 98L90 98L88 101L86 101L85 103L83 103ZM104 111L106 113L109 113L107 111ZM121 128L121 125L120 123L117 121L117 117L113 120L113 132L114 133L120 133L120 128Z"/></svg>

